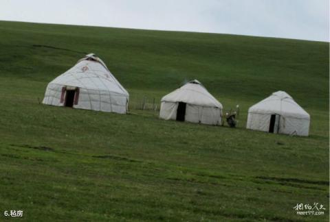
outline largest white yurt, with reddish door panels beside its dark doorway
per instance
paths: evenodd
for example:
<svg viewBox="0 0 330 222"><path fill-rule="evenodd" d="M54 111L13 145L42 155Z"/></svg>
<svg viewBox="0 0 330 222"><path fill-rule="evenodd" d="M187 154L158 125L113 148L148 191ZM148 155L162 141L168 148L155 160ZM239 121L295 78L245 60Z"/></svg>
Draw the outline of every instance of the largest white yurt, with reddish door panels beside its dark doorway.
<svg viewBox="0 0 330 222"><path fill-rule="evenodd" d="M43 103L124 114L129 93L100 58L89 54L48 84Z"/></svg>

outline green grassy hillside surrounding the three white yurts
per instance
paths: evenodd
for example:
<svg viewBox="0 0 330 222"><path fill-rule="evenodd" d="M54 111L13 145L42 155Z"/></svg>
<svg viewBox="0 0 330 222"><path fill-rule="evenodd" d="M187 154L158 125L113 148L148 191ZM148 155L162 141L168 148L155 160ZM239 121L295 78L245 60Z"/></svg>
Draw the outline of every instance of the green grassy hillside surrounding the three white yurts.
<svg viewBox="0 0 330 222"><path fill-rule="evenodd" d="M0 21L0 211L26 221L329 221L329 43ZM47 83L96 53L130 93L127 115L43 106ZM239 127L140 110L198 79ZM285 90L307 138L245 130ZM299 216L296 204L323 204ZM1 215L2 221L6 217Z"/></svg>

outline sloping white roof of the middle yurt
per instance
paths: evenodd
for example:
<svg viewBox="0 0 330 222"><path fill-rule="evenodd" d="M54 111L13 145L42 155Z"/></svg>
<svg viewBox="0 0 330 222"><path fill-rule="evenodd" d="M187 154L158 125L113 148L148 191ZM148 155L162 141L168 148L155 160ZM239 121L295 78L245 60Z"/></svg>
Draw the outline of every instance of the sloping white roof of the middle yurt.
<svg viewBox="0 0 330 222"><path fill-rule="evenodd" d="M222 108L221 103L217 101L208 90L197 80L192 80L181 88L164 96L162 101L166 102L184 102L198 106L210 106Z"/></svg>

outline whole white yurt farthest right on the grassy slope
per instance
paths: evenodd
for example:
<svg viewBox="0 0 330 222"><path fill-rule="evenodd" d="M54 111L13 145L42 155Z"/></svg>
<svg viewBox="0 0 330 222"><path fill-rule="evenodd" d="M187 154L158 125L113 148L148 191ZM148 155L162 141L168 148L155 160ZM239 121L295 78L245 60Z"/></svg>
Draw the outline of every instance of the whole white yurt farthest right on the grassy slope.
<svg viewBox="0 0 330 222"><path fill-rule="evenodd" d="M309 114L292 97L278 91L250 107L246 127L275 134L308 136L309 120Z"/></svg>

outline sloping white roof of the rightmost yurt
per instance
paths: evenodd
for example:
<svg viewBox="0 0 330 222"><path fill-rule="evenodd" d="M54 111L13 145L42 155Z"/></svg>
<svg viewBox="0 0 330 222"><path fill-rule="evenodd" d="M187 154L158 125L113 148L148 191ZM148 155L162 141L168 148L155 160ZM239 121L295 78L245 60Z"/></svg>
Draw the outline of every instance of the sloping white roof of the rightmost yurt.
<svg viewBox="0 0 330 222"><path fill-rule="evenodd" d="M281 114L301 119L309 119L309 114L284 91L272 93L270 97L254 104L249 109L252 113Z"/></svg>

